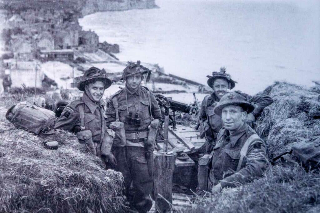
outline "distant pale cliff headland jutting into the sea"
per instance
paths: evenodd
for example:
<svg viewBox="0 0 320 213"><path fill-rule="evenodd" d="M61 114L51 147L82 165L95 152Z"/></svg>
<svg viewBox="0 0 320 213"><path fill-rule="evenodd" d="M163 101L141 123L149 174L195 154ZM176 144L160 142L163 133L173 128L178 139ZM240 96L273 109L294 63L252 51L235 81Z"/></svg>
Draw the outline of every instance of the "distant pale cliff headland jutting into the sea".
<svg viewBox="0 0 320 213"><path fill-rule="evenodd" d="M89 0L84 1L81 13L85 16L98 11L122 11L156 7L155 0Z"/></svg>

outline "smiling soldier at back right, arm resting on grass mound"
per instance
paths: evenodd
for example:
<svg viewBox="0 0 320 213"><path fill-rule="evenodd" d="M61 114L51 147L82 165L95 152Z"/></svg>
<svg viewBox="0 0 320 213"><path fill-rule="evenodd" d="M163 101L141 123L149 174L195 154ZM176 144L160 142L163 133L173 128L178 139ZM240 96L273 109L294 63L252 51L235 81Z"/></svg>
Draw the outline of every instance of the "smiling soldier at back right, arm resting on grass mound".
<svg viewBox="0 0 320 213"><path fill-rule="evenodd" d="M212 72L212 76L208 79L208 85L213 89L213 93L204 97L199 116L200 121L203 122L206 138L204 154L209 154L212 151L218 132L223 126L221 117L215 114L213 109L220 101L220 98L225 95L229 89L235 87L236 81L232 80L231 76L226 73L226 68L221 67L220 72ZM254 110L247 115L248 124L253 126L255 119L273 100L268 95L251 97L250 95L242 94L255 105Z"/></svg>

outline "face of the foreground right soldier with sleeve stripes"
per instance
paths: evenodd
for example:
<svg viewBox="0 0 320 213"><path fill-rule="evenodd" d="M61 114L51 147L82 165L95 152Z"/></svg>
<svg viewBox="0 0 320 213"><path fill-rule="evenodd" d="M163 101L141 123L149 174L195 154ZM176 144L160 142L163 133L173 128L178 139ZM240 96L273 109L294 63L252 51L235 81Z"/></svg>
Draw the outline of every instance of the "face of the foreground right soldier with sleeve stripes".
<svg viewBox="0 0 320 213"><path fill-rule="evenodd" d="M236 131L241 128L245 122L247 112L240 106L229 105L222 109L222 122L227 130Z"/></svg>

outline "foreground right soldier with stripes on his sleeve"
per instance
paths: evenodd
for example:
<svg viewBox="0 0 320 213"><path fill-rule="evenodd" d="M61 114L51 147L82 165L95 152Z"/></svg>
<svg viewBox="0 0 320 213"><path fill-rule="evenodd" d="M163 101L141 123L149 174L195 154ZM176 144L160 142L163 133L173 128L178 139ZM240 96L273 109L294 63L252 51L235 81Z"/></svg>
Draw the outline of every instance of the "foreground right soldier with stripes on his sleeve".
<svg viewBox="0 0 320 213"><path fill-rule="evenodd" d="M209 156L207 191L216 193L261 176L268 161L264 141L246 124L247 114L253 110L254 105L235 92L223 95L215 106L214 113L221 116L224 127Z"/></svg>

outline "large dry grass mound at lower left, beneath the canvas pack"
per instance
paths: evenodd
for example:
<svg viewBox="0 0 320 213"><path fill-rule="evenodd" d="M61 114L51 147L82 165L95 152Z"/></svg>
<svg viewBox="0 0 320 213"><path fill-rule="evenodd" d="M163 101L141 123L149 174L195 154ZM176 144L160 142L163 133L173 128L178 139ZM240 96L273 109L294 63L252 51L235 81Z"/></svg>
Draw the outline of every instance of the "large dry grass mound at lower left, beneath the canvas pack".
<svg viewBox="0 0 320 213"><path fill-rule="evenodd" d="M0 212L121 212L121 173L104 169L73 134L16 129L5 111L0 107ZM44 148L52 140L58 150Z"/></svg>

